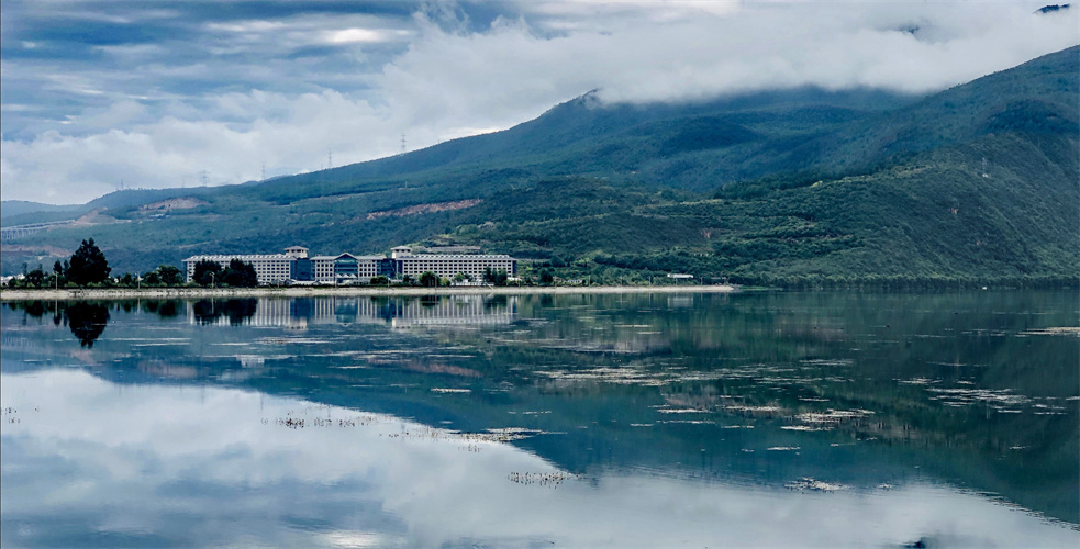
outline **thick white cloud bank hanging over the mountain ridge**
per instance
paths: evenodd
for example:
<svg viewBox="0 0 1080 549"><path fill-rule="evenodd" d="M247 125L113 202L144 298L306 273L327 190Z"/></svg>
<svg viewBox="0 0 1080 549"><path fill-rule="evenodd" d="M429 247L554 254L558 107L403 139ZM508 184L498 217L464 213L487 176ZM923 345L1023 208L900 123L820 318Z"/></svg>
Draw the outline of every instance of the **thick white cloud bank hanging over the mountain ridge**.
<svg viewBox="0 0 1080 549"><path fill-rule="evenodd" d="M1076 13L1035 15L1032 2L516 5L520 16L481 32L466 32L465 18L445 5L411 23L303 15L204 25L214 36L208 47L223 59L265 52L266 63L169 63L152 46L104 49L151 61L127 72L47 74L48 89L115 104L86 108L53 133L5 137L3 198L82 202L121 178L175 187L178 173L203 169L215 183L241 182L256 179L263 163L274 175L319 169L327 150L335 165L367 160L397 153L402 133L414 149L505 128L597 88L606 101L633 102L803 85L927 92L1080 42ZM390 43L408 47L370 66L367 48ZM350 52L353 65L286 56L327 44ZM12 66L5 61L5 81ZM113 91L129 74L148 83L224 74L275 91L183 97L152 86L151 104ZM146 109L135 112L132 100ZM63 158L53 156L58 147Z"/></svg>

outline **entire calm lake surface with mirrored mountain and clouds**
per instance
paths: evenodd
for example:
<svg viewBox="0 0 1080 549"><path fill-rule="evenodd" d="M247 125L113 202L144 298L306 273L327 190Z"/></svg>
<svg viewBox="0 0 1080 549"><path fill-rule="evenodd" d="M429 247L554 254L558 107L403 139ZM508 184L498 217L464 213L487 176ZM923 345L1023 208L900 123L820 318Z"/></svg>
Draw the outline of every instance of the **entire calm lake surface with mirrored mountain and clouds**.
<svg viewBox="0 0 1080 549"><path fill-rule="evenodd" d="M1078 547L1078 304L4 304L0 541Z"/></svg>

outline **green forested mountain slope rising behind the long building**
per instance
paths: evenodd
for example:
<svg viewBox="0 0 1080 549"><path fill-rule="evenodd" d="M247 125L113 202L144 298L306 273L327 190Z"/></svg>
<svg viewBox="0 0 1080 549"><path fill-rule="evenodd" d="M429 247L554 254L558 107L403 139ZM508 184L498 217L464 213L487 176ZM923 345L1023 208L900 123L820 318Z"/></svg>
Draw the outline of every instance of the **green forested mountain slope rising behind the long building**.
<svg viewBox="0 0 1080 549"><path fill-rule="evenodd" d="M606 282L678 271L772 284L1075 283L1078 96L1080 47L926 97L795 89L638 105L589 93L504 132L381 160L113 197L96 206L108 223L16 243L32 255L93 236L121 270L291 244L416 243L478 245ZM5 270L13 259L5 249Z"/></svg>

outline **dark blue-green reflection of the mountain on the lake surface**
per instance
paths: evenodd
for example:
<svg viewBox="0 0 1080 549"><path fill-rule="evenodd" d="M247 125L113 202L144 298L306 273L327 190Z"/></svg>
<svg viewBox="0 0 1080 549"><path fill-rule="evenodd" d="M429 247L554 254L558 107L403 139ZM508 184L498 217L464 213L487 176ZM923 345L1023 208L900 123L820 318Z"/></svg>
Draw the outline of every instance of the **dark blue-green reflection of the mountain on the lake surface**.
<svg viewBox="0 0 1080 549"><path fill-rule="evenodd" d="M227 300L130 314L112 304L122 327L85 363L116 383L222 384L458 432L524 429L515 446L575 474L792 491L929 480L1080 524L1076 302L837 292L263 299L232 313ZM69 352L47 325L9 334L52 306L9 305L25 313L4 315L5 360ZM387 329L404 327L422 329Z"/></svg>

